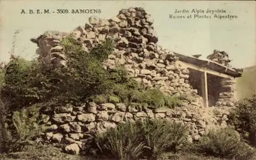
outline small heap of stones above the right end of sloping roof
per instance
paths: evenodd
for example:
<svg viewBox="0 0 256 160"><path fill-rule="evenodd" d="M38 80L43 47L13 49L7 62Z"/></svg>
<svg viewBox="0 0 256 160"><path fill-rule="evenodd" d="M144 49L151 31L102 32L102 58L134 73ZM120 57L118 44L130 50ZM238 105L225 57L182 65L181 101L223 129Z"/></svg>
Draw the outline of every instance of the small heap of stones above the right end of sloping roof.
<svg viewBox="0 0 256 160"><path fill-rule="evenodd" d="M207 59L218 62L222 65L231 67L231 65L229 64L231 60L228 58L228 54L224 51L214 50L214 53L207 56Z"/></svg>

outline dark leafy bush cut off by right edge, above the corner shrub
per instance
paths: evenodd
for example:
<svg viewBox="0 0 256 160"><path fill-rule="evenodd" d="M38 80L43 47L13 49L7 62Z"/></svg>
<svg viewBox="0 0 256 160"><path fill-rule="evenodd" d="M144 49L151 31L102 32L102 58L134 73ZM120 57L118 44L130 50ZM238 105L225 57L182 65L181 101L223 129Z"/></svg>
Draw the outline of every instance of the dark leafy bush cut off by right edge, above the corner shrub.
<svg viewBox="0 0 256 160"><path fill-rule="evenodd" d="M238 102L229 115L229 123L256 147L256 95Z"/></svg>

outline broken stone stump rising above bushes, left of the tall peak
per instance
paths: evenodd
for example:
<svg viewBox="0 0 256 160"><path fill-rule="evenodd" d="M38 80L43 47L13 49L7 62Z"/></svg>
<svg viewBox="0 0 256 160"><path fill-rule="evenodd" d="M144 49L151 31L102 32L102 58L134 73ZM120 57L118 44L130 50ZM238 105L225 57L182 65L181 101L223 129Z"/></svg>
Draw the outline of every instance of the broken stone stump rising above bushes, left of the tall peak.
<svg viewBox="0 0 256 160"><path fill-rule="evenodd" d="M67 36L64 32L46 32L38 38L31 38L31 41L38 45L36 51L40 56L39 61L53 67L66 66L66 56L60 46L60 40Z"/></svg>

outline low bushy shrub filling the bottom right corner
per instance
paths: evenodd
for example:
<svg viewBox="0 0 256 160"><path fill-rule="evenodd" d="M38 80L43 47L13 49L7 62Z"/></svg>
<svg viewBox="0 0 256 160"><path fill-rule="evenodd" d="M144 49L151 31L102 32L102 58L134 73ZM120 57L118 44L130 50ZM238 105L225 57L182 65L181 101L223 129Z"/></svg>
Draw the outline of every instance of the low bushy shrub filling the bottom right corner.
<svg viewBox="0 0 256 160"><path fill-rule="evenodd" d="M242 142L237 131L231 128L211 130L202 136L194 151L221 158L252 159L255 150Z"/></svg>

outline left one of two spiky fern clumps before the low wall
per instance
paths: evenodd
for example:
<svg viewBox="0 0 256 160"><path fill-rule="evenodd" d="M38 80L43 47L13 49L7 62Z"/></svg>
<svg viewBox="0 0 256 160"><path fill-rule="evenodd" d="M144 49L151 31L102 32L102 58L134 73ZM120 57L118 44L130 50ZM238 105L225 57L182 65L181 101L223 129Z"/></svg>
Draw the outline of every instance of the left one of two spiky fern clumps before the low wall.
<svg viewBox="0 0 256 160"><path fill-rule="evenodd" d="M104 155L117 159L138 159L145 145L139 133L140 128L128 122L98 135L96 143Z"/></svg>

